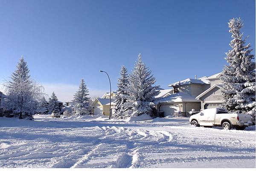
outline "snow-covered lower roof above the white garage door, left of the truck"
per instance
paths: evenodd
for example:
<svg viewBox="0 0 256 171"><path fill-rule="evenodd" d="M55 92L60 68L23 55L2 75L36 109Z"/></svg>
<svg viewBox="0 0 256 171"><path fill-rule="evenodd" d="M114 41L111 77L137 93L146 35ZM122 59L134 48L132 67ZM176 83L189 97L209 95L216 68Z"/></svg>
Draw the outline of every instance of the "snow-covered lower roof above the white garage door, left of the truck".
<svg viewBox="0 0 256 171"><path fill-rule="evenodd" d="M196 100L195 96L191 96L188 93L179 92L179 93L175 93L170 96L167 96L165 98L158 99L155 101L155 103L158 104L158 103L186 102L186 101L199 101L199 100Z"/></svg>

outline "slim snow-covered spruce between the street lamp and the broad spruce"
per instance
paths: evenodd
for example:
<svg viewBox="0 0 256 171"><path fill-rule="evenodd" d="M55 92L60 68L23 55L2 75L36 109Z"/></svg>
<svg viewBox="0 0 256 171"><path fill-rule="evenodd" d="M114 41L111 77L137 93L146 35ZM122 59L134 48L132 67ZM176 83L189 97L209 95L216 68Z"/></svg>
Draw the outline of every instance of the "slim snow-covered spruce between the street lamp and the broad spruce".
<svg viewBox="0 0 256 171"><path fill-rule="evenodd" d="M128 87L128 74L127 69L125 66L122 66L120 70L120 78L118 78L117 83L117 93L116 93L116 100L114 103L115 106L115 116L116 118L122 118L123 112L125 112L124 103L126 102L125 96L127 95L126 89Z"/></svg>

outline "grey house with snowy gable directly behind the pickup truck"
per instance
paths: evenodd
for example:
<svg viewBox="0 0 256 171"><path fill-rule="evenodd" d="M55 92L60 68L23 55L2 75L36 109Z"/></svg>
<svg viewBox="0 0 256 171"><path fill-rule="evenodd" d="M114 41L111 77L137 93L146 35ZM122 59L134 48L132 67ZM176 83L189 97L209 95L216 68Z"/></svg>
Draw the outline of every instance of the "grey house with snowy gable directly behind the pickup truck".
<svg viewBox="0 0 256 171"><path fill-rule="evenodd" d="M220 75L221 72L207 77L207 80L210 81L210 87L196 97L197 100L201 101L201 109L219 107L223 103L221 95L223 84L221 84Z"/></svg>

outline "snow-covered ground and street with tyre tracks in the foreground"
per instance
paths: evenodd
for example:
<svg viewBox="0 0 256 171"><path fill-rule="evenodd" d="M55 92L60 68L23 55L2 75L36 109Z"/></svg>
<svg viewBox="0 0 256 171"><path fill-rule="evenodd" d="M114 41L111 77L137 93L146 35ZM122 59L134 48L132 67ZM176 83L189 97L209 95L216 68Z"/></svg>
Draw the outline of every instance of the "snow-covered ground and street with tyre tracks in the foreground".
<svg viewBox="0 0 256 171"><path fill-rule="evenodd" d="M0 118L0 167L255 168L255 126L196 128L189 118Z"/></svg>

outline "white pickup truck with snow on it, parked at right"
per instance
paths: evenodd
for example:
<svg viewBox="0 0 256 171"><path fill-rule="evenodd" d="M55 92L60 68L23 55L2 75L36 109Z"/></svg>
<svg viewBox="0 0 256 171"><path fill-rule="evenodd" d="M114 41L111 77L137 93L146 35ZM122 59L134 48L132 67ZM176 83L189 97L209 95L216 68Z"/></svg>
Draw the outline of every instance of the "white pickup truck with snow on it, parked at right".
<svg viewBox="0 0 256 171"><path fill-rule="evenodd" d="M200 113L190 116L189 123L197 127L222 126L224 130L230 130L231 128L244 130L247 126L253 125L250 115L242 113L228 113L228 111L223 108L202 110Z"/></svg>

